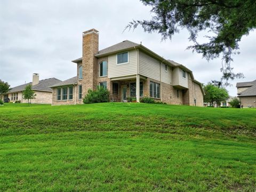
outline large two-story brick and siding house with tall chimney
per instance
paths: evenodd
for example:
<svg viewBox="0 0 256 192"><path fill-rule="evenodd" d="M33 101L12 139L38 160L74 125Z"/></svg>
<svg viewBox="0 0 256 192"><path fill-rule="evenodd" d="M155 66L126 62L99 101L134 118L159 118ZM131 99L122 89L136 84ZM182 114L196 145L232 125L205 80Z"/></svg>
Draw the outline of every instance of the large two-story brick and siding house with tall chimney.
<svg viewBox="0 0 256 192"><path fill-rule="evenodd" d="M89 89L110 91L110 101L151 97L175 105L203 106L203 88L187 67L164 59L142 44L123 41L99 51L99 31L83 33L82 58L73 60L77 75L52 87L53 105L74 105Z"/></svg>

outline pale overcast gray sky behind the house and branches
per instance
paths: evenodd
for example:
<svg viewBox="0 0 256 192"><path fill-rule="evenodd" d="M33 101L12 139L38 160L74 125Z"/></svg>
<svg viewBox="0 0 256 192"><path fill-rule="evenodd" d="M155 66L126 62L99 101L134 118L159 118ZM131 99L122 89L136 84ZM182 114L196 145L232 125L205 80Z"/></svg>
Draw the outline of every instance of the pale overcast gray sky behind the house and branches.
<svg viewBox="0 0 256 192"><path fill-rule="evenodd" d="M82 32L95 28L100 31L99 49L126 39L140 43L165 59L179 62L194 73L202 83L221 77L221 59L210 62L197 53L186 50L188 33L181 30L172 40L161 41L161 35L144 33L142 28L124 31L133 19L149 19L150 7L139 0L1 0L0 1L0 79L14 87L31 82L32 74L40 79L60 80L76 75L71 60L82 56ZM251 31L240 43L241 54L232 63L235 72L244 79L227 87L236 95L236 82L256 79L256 32Z"/></svg>

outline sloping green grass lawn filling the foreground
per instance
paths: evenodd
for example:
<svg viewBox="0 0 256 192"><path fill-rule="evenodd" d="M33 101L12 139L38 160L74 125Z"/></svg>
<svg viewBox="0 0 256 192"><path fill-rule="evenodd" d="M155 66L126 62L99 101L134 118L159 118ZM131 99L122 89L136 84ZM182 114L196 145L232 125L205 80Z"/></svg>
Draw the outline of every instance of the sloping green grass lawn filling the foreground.
<svg viewBox="0 0 256 192"><path fill-rule="evenodd" d="M0 191L255 191L256 110L0 106Z"/></svg>

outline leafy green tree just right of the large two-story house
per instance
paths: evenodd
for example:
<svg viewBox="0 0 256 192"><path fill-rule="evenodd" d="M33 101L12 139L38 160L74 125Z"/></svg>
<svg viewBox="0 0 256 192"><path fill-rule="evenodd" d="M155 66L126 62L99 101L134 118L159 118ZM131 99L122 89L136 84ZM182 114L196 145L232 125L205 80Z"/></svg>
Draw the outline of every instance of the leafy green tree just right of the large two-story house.
<svg viewBox="0 0 256 192"><path fill-rule="evenodd" d="M204 86L204 92L204 102L210 103L211 106L213 106L214 102L219 106L222 101L226 101L229 98L228 91L225 88L220 88L210 83Z"/></svg>

